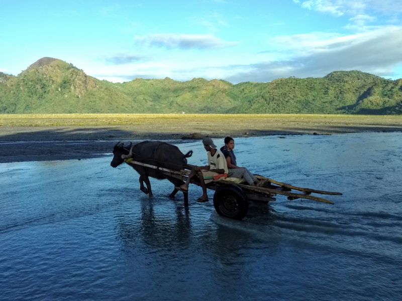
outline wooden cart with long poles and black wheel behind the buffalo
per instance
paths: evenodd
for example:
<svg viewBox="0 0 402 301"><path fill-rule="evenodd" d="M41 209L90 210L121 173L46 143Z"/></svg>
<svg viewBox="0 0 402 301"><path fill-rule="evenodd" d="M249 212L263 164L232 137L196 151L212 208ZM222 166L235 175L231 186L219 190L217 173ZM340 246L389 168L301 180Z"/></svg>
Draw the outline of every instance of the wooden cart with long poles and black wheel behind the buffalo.
<svg viewBox="0 0 402 301"><path fill-rule="evenodd" d="M166 176L171 176L182 181L187 180L191 169L194 168L192 165L187 165L185 170L174 171L134 160L132 160L131 163L147 168L157 169ZM257 179L266 180L264 181L265 184L262 187L239 184L227 180L214 181L206 185L208 189L215 190L214 207L218 214L228 218L241 220L247 215L249 202L267 204L268 202L275 201L276 195L284 195L288 200L307 199L327 204L334 203L312 194L342 195L340 192L296 187L290 184L275 181L273 179L265 178L263 176L255 176ZM191 179L191 183L200 186L200 183L196 177ZM177 192L177 190L173 191L171 196L174 196ZM188 193L184 193L184 205L188 206Z"/></svg>

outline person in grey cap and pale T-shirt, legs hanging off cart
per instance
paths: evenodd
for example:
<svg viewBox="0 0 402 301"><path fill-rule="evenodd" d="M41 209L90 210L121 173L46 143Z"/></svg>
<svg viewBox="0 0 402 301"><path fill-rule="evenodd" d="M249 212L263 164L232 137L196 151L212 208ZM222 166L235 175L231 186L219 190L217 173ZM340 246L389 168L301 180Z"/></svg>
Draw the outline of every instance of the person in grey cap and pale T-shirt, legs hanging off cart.
<svg viewBox="0 0 402 301"><path fill-rule="evenodd" d="M197 202L209 201L207 195L207 188L205 184L214 181L214 177L218 175L228 174L228 165L226 163L225 156L222 154L220 150L217 149L217 146L214 144L214 141L210 137L205 137L203 139L203 144L205 150L207 151L208 166L200 166L194 168L188 175L187 181L180 187L177 187L177 189L187 192L190 180L195 175L198 175L199 182L203 189L203 195L200 198L198 198Z"/></svg>

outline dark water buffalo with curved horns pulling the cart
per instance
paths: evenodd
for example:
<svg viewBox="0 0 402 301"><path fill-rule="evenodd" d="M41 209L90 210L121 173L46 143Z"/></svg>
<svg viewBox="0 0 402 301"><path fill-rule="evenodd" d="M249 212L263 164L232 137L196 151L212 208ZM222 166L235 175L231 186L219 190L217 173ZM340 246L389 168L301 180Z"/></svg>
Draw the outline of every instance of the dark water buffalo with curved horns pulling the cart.
<svg viewBox="0 0 402 301"><path fill-rule="evenodd" d="M187 165L186 158L191 157L192 150L184 155L180 152L180 149L177 146L161 141L143 141L134 145L130 143L130 146L128 147L124 147L124 143L118 142L113 148L113 155L113 160L110 163L112 167L118 167L120 164L125 162L126 158L131 156L135 161L141 163L180 171ZM127 164L132 166L140 174L140 190L145 194L148 194L150 197L153 197L153 194L148 177L167 179L176 187L184 183L179 179L164 175L156 169L134 165L130 162L127 162ZM146 188L144 182L147 186ZM177 191L177 189L174 189L169 197L173 198ZM188 194L183 192L183 196L184 202L187 203Z"/></svg>

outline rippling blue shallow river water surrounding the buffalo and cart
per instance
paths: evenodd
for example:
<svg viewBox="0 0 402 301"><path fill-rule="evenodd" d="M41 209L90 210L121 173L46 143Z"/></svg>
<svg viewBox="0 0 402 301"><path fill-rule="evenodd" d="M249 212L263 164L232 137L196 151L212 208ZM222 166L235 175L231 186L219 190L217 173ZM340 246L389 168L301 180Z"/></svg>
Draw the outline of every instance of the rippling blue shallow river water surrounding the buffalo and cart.
<svg viewBox="0 0 402 301"><path fill-rule="evenodd" d="M199 142L178 146L206 164ZM111 156L0 164L0 299L400 299L402 133L238 138L235 150L254 173L344 195L278 196L234 221L196 203L196 186L188 208L167 181L151 180L149 199Z"/></svg>

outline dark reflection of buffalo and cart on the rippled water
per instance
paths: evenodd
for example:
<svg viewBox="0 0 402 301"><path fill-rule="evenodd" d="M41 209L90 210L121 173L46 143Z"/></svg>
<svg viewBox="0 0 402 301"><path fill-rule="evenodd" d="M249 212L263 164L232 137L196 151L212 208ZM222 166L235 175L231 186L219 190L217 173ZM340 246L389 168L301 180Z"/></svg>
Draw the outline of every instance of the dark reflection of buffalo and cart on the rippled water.
<svg viewBox="0 0 402 301"><path fill-rule="evenodd" d="M259 236L261 225L266 230L272 228L277 221L275 210L267 204L252 203L247 217L238 221L219 216L212 202L210 206L190 204L186 207L183 206L181 198L149 199L146 196L139 197L135 202L140 203L140 212L135 209L135 214L127 212L117 219L119 237L127 248L142 241L148 247L159 250L185 249L202 233L204 245L224 247L227 251L233 251L239 240L254 239L255 234ZM227 253L222 250L215 251L217 254Z"/></svg>

